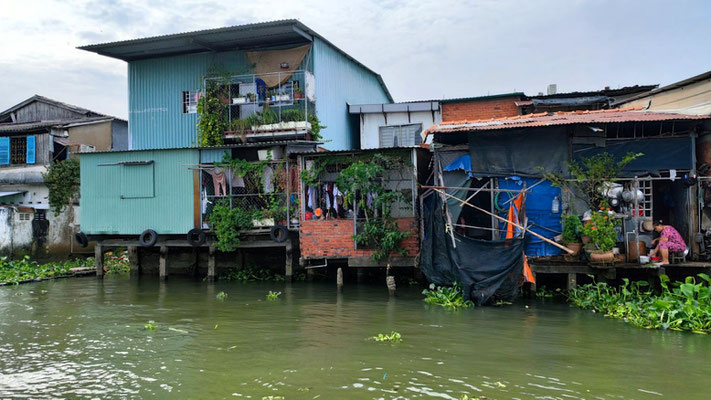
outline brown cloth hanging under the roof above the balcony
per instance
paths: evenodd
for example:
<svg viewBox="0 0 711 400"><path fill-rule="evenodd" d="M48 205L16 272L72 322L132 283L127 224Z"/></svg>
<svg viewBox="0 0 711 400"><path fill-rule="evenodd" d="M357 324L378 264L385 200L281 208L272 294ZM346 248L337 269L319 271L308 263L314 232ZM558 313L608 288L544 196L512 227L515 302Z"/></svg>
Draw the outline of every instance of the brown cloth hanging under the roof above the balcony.
<svg viewBox="0 0 711 400"><path fill-rule="evenodd" d="M310 44L281 50L248 51L247 60L254 65L254 73L259 76L267 87L283 84L301 66L301 61L311 48ZM288 63L288 69L282 69L281 64ZM272 72L281 72L280 75Z"/></svg>

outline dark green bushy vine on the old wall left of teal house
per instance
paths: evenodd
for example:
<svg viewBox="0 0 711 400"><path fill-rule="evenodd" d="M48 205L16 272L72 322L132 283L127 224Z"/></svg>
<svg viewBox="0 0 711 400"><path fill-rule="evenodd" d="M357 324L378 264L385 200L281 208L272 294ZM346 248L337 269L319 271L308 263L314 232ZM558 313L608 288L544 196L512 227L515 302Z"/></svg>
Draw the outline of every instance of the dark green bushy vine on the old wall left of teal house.
<svg viewBox="0 0 711 400"><path fill-rule="evenodd" d="M54 215L59 215L79 194L79 160L69 158L52 163L42 177L49 188L49 206Z"/></svg>

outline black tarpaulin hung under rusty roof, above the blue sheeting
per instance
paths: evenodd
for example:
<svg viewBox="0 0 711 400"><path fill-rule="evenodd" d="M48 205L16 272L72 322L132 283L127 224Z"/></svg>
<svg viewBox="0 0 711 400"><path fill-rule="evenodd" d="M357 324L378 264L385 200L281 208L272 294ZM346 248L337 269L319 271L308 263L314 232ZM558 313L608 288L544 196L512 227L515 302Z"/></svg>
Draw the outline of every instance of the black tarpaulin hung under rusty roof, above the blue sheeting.
<svg viewBox="0 0 711 400"><path fill-rule="evenodd" d="M565 127L471 132L468 136L473 173L538 176L538 167L554 173L567 172Z"/></svg>

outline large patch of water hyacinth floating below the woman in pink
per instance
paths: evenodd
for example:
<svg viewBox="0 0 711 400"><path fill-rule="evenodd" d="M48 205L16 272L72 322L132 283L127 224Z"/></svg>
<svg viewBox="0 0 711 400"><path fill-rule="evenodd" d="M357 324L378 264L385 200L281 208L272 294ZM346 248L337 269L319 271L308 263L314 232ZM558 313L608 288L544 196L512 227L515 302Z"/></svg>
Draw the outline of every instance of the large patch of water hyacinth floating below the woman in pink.
<svg viewBox="0 0 711 400"><path fill-rule="evenodd" d="M648 289L647 282L630 283L623 279L619 288L604 282L573 289L569 301L648 329L672 329L694 333L711 332L711 278L698 274L700 282L687 277L671 283L661 275L661 293Z"/></svg>

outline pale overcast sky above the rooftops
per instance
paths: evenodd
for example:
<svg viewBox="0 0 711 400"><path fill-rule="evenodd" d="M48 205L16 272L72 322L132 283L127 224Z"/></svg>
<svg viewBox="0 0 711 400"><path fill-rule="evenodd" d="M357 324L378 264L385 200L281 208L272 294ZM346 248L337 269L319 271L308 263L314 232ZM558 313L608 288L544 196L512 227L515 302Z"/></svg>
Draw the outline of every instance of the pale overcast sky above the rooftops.
<svg viewBox="0 0 711 400"><path fill-rule="evenodd" d="M150 4L150 5L149 5ZM0 110L41 94L126 118L123 61L86 44L296 18L395 101L669 84L711 70L708 1L0 0Z"/></svg>

